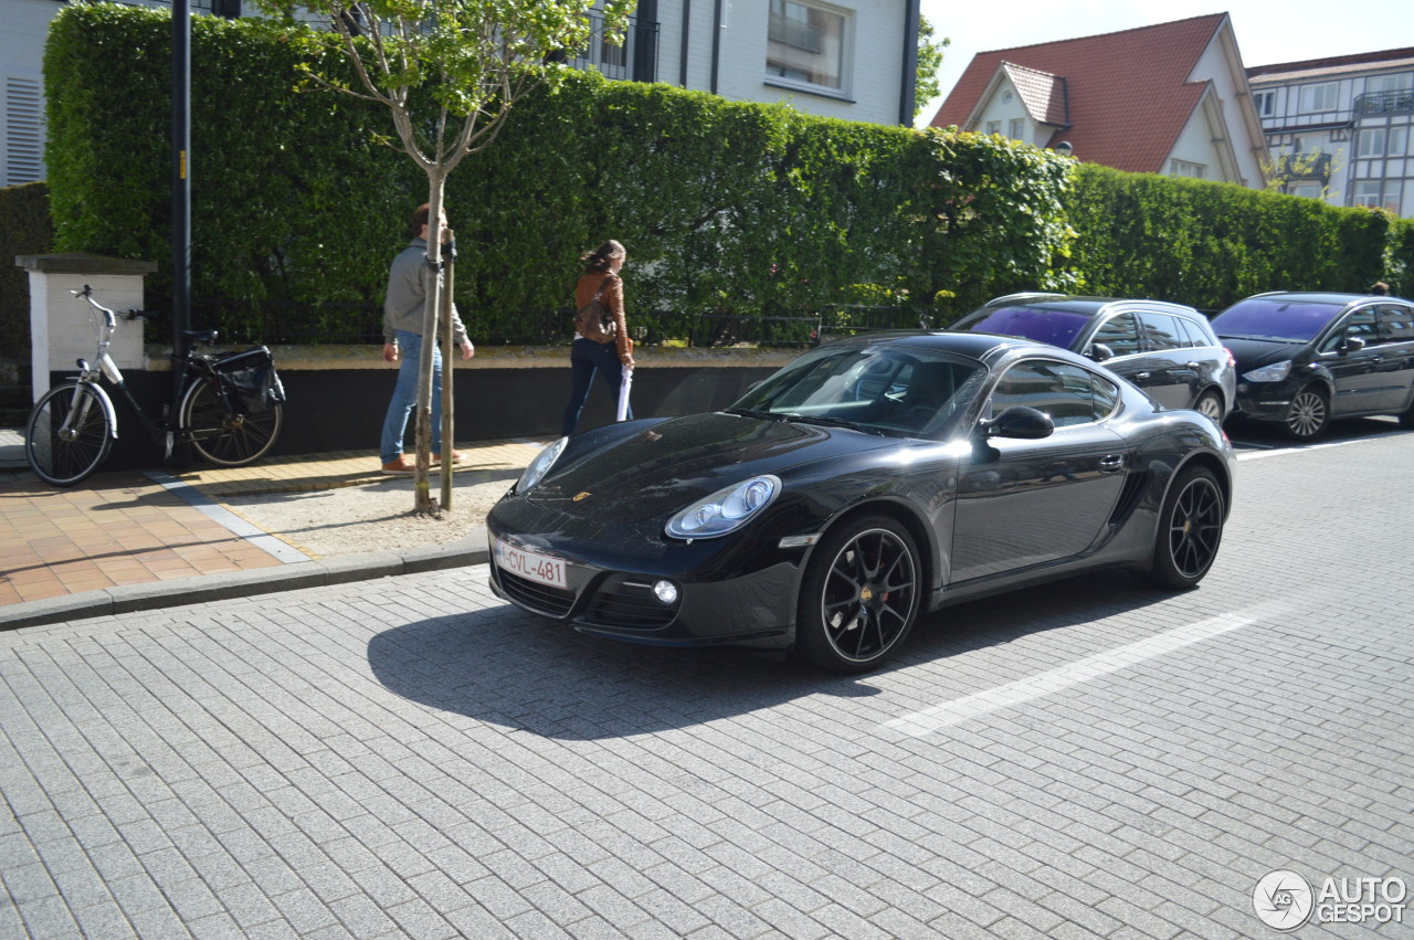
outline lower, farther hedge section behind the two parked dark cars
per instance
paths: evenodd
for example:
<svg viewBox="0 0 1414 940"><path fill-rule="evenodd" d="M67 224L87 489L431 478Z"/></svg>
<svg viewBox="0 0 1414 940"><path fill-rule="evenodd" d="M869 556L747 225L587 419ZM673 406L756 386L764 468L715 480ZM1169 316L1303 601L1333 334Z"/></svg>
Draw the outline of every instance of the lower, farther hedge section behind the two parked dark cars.
<svg viewBox="0 0 1414 940"><path fill-rule="evenodd" d="M1066 195L1085 288L1222 308L1268 290L1363 293L1390 216L1233 184L1086 164Z"/></svg>

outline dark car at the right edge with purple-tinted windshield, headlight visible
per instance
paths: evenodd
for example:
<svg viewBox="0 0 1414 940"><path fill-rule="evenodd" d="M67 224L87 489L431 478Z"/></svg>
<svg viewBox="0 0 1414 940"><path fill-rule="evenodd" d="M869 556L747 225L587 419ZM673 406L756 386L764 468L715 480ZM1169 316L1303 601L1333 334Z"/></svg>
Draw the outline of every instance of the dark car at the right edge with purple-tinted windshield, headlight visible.
<svg viewBox="0 0 1414 940"><path fill-rule="evenodd" d="M1311 441L1335 418L1398 416L1414 427L1414 301L1271 293L1213 317L1237 358L1237 414Z"/></svg>

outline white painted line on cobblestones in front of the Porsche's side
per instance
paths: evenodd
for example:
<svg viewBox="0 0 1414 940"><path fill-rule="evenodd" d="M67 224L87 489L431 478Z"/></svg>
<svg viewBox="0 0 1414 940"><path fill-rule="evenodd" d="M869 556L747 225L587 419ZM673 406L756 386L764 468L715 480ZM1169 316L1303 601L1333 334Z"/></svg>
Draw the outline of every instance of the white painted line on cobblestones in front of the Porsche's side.
<svg viewBox="0 0 1414 940"><path fill-rule="evenodd" d="M925 708L923 711L915 711L911 715L892 718L885 721L882 727L921 738L933 731L967 721L969 718L976 718L998 708L1019 705L1021 703L1079 686L1107 673L1127 669L1147 659L1164 656L1185 646L1230 633L1232 630L1254 623L1256 619L1256 616L1243 613L1225 613L1199 623L1189 623L1188 626L1181 626L1158 636L1087 656L1045 673L1018 678L1005 686L963 695L962 698L954 698L953 701Z"/></svg>

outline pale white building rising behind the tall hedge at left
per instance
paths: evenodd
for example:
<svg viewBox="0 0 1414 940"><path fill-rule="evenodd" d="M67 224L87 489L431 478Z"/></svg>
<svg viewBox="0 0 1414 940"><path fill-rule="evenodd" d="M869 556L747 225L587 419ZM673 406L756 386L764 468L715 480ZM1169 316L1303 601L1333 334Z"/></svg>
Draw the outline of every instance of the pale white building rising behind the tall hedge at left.
<svg viewBox="0 0 1414 940"><path fill-rule="evenodd" d="M41 66L61 6L0 0L0 185L44 178ZM191 10L253 13L240 0L198 0ZM592 41L574 62L609 78L912 126L918 10L919 0L641 0L624 48Z"/></svg>

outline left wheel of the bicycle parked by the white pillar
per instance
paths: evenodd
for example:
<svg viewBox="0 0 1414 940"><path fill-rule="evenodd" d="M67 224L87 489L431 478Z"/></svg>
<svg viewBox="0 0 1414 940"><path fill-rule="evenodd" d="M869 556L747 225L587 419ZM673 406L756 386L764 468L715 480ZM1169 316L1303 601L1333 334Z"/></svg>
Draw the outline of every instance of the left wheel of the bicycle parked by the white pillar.
<svg viewBox="0 0 1414 940"><path fill-rule="evenodd" d="M64 423L74 413L69 430ZM24 458L40 479L72 486L99 468L113 447L113 425L98 393L86 384L55 386L30 413Z"/></svg>

